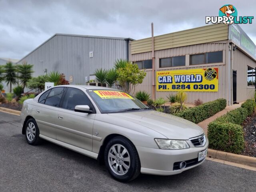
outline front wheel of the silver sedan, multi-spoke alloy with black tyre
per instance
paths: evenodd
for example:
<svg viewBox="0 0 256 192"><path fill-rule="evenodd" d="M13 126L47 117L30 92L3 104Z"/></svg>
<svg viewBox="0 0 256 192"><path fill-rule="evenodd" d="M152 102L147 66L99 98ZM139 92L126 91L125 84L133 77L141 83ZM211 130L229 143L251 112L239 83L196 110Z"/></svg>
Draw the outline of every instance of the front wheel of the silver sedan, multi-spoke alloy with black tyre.
<svg viewBox="0 0 256 192"><path fill-rule="evenodd" d="M105 164L116 180L128 182L140 174L140 160L135 146L125 137L113 138L106 145Z"/></svg>

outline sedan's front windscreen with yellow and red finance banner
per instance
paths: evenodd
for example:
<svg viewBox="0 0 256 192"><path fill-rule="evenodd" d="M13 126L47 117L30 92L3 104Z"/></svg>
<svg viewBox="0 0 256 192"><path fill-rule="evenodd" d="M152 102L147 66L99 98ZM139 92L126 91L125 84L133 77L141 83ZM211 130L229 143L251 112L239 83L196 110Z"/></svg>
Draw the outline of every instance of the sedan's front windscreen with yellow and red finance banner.
<svg viewBox="0 0 256 192"><path fill-rule="evenodd" d="M117 90L88 90L102 113L126 112L149 109L129 94Z"/></svg>

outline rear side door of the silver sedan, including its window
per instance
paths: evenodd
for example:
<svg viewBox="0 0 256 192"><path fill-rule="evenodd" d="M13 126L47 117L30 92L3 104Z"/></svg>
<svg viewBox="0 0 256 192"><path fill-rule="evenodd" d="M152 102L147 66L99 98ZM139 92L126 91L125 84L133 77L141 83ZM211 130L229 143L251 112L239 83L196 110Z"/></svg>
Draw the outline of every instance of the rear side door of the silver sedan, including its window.
<svg viewBox="0 0 256 192"><path fill-rule="evenodd" d="M66 87L56 87L40 96L33 113L40 134L56 139L55 117L65 90Z"/></svg>

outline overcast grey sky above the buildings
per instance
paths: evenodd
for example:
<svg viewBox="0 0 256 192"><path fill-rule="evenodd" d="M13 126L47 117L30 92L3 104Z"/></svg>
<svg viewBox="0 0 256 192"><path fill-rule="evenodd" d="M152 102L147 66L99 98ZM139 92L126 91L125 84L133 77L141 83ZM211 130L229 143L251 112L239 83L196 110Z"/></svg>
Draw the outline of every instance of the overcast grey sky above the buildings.
<svg viewBox="0 0 256 192"><path fill-rule="evenodd" d="M141 39L204 26L232 4L238 16L254 16L244 0L0 0L0 57L20 59L56 33ZM240 25L256 44L256 17Z"/></svg>

